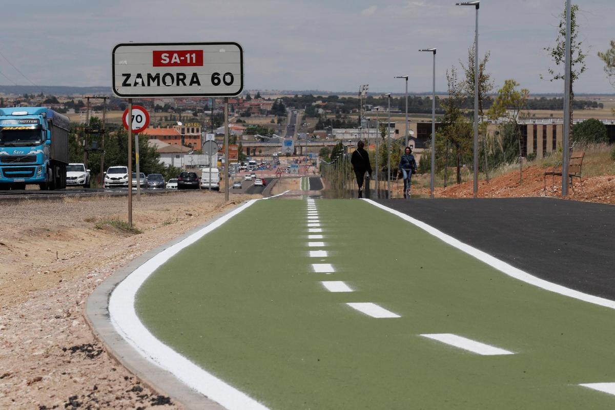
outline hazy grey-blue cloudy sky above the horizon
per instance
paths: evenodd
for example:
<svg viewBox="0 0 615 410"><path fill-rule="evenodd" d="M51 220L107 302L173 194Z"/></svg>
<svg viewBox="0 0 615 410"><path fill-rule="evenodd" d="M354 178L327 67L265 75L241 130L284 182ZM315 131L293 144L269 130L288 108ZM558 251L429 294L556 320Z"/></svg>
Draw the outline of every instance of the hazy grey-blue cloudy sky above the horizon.
<svg viewBox="0 0 615 410"><path fill-rule="evenodd" d="M247 90L446 91L446 70L467 61L474 7L455 0L31 0L2 5L0 84L111 87L121 42L234 41L244 49ZM615 40L614 0L577 0L587 71L575 93L615 93L597 52ZM490 51L495 90L515 79L531 93L563 93L541 79L554 67L565 0L482 0L478 51Z"/></svg>

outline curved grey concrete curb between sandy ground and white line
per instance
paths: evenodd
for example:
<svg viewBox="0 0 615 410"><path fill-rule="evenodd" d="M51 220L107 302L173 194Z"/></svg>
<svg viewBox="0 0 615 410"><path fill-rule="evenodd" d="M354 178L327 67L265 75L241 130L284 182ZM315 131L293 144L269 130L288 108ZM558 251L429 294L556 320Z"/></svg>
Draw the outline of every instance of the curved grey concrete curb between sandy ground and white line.
<svg viewBox="0 0 615 410"><path fill-rule="evenodd" d="M181 242L181 240L186 239L189 235L214 223L216 220L247 202L248 201L239 203L235 207L216 215L206 223L133 259L129 264L116 270L116 272L106 278L106 280L98 285L93 293L90 294L89 298L87 298L84 312L85 321L88 323L97 339L103 343L106 352L131 373L143 380L145 384L153 388L153 390L163 395L170 396L173 401L183 404L186 409L226 410L220 404L207 398L207 396L183 384L173 376L173 374L159 368L154 365L154 363L141 356L122 336L117 334L109 320L109 297L124 278L132 274L133 270L153 258L153 256L169 248L169 246Z"/></svg>

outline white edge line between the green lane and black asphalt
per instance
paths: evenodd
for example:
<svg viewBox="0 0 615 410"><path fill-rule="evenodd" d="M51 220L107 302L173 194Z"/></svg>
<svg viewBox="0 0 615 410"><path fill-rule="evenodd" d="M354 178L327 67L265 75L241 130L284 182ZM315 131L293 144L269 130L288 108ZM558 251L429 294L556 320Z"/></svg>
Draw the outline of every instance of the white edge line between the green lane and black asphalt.
<svg viewBox="0 0 615 410"><path fill-rule="evenodd" d="M510 277L521 280L525 283L530 283L530 285L538 286L539 288L542 288L544 290L563 294L564 296L569 296L570 298L579 299L580 301L597 304L599 306L608 307L610 309L615 309L615 301L600 298L599 296L593 296L587 293L582 293L570 288L566 288L565 286L557 285L557 283L551 283L544 279L530 275L527 272L524 272L521 269L517 269L516 267L507 264L506 262L501 261L498 258L494 258L494 256L491 256L486 252L478 250L473 246L467 245L466 243L463 243L458 239L454 239L450 235L447 235L442 231L438 231L438 229L435 229L431 225L427 225L426 223L421 222L418 219L412 218L411 216L405 215L404 213L401 213L389 207L385 207L384 205L381 205L378 202L374 202L371 199L363 200L368 203L371 203L371 205L374 205L375 207L381 208L387 212L392 213L393 215L397 215L400 218L405 219L405 221L408 221L411 224L414 224L415 226L423 229L424 231L429 232L429 234L432 234L443 242L448 243L448 245L454 246L455 248L464 251L470 256L474 256L474 258L478 259L479 261L485 262L489 266L498 269L500 272L503 272Z"/></svg>

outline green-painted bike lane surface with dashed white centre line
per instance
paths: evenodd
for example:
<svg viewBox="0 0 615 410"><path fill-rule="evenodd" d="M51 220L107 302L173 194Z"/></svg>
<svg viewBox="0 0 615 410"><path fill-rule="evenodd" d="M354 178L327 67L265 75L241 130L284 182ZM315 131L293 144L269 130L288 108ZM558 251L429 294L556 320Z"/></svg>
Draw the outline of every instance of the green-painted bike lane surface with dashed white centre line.
<svg viewBox="0 0 615 410"><path fill-rule="evenodd" d="M137 293L141 321L271 409L615 406L579 386L615 381L614 310L507 277L367 202L313 203L258 201L173 256ZM399 317L346 305L357 302Z"/></svg>

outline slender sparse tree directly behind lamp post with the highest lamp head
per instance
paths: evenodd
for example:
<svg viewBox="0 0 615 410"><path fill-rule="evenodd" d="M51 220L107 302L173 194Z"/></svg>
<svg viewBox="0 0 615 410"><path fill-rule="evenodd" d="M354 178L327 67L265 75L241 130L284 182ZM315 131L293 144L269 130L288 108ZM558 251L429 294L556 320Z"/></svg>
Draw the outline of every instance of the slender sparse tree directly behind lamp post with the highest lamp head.
<svg viewBox="0 0 615 410"><path fill-rule="evenodd" d="M491 79L491 74L487 73L486 66L489 61L489 57L491 57L491 52L486 52L485 57L482 60L478 61L478 116L483 118L485 107L485 96L493 90L493 80ZM471 100L474 100L474 45L467 50L467 66L459 61L461 64L461 68L466 74L466 79L462 83L462 87L467 97ZM484 160L485 160L485 176L487 179L487 183L489 183L489 164L487 159L487 152L489 151L487 146L487 138L486 138L486 123L482 122L480 127L478 127L478 135L482 135L483 142L483 152L484 152Z"/></svg>

